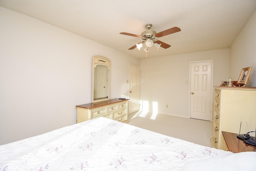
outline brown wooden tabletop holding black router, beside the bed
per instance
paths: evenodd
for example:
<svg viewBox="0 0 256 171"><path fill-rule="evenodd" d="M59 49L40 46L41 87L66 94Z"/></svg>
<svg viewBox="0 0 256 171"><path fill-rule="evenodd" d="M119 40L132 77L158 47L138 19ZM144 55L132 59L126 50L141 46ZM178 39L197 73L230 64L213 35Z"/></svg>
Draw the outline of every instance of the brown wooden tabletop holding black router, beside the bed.
<svg viewBox="0 0 256 171"><path fill-rule="evenodd" d="M244 140L236 137L237 133L222 131L228 151L240 153L245 151L256 151L256 146L244 143Z"/></svg>

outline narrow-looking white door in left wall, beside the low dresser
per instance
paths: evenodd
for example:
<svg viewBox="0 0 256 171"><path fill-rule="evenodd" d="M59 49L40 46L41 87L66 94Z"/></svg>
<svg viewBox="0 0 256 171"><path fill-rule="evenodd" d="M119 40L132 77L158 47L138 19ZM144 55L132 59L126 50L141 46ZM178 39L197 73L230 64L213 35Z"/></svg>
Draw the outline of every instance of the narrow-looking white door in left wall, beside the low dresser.
<svg viewBox="0 0 256 171"><path fill-rule="evenodd" d="M140 110L140 66L129 65L129 114Z"/></svg>

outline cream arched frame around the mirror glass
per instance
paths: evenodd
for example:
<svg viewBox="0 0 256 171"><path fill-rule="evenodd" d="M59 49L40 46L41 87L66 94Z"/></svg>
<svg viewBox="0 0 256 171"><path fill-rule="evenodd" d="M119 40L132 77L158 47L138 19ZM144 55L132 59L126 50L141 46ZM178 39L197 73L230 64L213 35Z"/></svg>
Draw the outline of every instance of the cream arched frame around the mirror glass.
<svg viewBox="0 0 256 171"><path fill-rule="evenodd" d="M97 65L104 65L108 67L109 74L108 74L108 98L103 99L94 99L94 68ZM92 60L92 103L100 102L100 101L107 101L110 100L110 73L111 73L111 61L103 56L94 56Z"/></svg>

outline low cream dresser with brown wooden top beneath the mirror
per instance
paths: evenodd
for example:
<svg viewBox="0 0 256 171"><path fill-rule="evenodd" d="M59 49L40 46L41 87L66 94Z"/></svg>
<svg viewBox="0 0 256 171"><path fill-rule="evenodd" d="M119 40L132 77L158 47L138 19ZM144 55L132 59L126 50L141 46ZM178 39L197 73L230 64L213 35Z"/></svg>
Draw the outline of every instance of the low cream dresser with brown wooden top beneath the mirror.
<svg viewBox="0 0 256 171"><path fill-rule="evenodd" d="M128 123L128 100L110 99L97 103L77 105L77 123L96 117L107 117Z"/></svg>

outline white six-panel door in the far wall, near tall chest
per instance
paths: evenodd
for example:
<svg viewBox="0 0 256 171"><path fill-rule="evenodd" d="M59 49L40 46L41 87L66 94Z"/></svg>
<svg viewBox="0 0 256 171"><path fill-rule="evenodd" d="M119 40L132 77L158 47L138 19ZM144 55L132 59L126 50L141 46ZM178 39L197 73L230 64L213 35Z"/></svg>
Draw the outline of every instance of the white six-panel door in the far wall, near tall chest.
<svg viewBox="0 0 256 171"><path fill-rule="evenodd" d="M212 120L212 62L190 64L190 118Z"/></svg>

